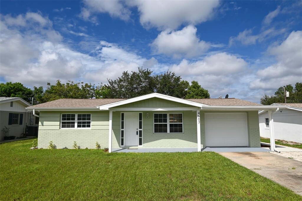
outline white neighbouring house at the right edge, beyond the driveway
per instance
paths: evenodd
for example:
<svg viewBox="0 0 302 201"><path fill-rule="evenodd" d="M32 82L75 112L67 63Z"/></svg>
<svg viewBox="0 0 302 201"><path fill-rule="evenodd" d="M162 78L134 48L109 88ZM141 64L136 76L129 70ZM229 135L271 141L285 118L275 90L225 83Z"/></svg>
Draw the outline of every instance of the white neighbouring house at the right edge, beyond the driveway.
<svg viewBox="0 0 302 201"><path fill-rule="evenodd" d="M275 139L302 143L302 103L274 103L289 106L273 114ZM267 111L259 111L260 136L270 138Z"/></svg>

